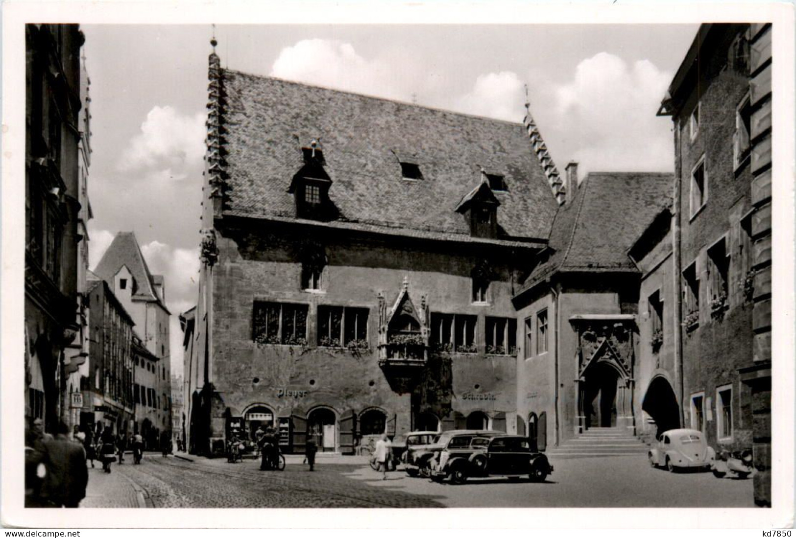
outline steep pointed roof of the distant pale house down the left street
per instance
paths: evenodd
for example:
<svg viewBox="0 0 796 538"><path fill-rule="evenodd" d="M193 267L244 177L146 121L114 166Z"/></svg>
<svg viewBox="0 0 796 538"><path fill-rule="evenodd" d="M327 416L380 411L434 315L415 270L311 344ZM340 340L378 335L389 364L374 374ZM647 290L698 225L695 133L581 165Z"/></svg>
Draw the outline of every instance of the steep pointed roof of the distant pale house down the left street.
<svg viewBox="0 0 796 538"><path fill-rule="evenodd" d="M146 260L141 253L138 240L135 239L133 232L119 232L113 238L111 246L107 248L100 263L94 272L100 279L113 282L116 273L122 267L127 267L135 279L133 296L146 301L159 302L160 299L154 293L154 281L150 274Z"/></svg>

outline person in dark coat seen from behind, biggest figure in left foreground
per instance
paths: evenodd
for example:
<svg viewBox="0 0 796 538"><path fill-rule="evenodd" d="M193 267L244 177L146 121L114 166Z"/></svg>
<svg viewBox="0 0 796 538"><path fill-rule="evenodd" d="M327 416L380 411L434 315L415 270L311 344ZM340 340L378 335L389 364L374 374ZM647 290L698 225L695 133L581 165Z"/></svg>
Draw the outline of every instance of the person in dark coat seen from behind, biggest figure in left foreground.
<svg viewBox="0 0 796 538"><path fill-rule="evenodd" d="M45 442L45 480L41 498L52 508L77 508L86 496L88 469L83 446L68 438L69 427L59 423L57 435Z"/></svg>

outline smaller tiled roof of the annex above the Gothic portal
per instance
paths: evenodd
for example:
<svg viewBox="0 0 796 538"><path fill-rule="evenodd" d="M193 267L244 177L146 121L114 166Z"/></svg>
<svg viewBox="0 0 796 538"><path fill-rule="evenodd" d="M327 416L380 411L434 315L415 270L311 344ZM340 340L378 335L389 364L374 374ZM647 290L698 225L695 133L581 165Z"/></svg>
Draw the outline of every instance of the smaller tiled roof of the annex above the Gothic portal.
<svg viewBox="0 0 796 538"><path fill-rule="evenodd" d="M672 173L589 173L553 220L549 258L521 291L558 271L632 271L627 250L672 201ZM543 252L544 254L544 252Z"/></svg>

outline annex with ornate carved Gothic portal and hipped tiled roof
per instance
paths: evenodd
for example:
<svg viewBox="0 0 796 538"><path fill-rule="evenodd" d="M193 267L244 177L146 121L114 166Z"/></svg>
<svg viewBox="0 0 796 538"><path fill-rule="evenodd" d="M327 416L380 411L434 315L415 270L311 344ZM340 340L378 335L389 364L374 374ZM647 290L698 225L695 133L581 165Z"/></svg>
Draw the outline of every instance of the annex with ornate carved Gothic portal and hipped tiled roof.
<svg viewBox="0 0 796 538"><path fill-rule="evenodd" d="M640 271L627 251L671 203L670 173L567 166L547 248L513 298L517 413L540 450L592 427L634 432Z"/></svg>

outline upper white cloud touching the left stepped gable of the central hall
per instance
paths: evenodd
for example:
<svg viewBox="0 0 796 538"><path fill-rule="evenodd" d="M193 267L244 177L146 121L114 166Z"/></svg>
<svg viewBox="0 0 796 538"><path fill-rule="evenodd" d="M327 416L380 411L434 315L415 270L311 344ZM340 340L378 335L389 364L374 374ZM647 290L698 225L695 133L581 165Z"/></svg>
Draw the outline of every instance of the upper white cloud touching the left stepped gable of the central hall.
<svg viewBox="0 0 796 538"><path fill-rule="evenodd" d="M181 115L173 107L154 107L121 155L122 171L180 169L201 164L205 154L205 115Z"/></svg>

